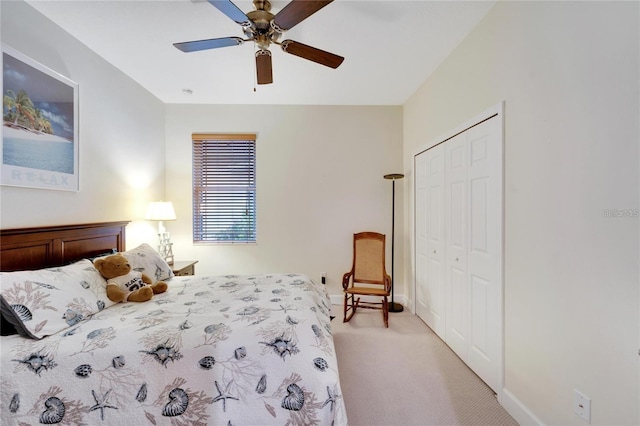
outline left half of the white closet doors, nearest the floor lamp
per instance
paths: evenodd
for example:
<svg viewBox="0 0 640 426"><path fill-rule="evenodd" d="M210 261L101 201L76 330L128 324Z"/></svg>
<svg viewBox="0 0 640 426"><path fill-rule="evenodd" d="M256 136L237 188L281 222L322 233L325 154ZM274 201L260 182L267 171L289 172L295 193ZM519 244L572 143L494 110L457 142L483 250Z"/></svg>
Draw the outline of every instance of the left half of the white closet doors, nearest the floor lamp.
<svg viewBox="0 0 640 426"><path fill-rule="evenodd" d="M444 339L444 147L416 156L415 167L416 313Z"/></svg>

